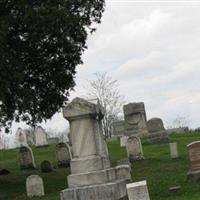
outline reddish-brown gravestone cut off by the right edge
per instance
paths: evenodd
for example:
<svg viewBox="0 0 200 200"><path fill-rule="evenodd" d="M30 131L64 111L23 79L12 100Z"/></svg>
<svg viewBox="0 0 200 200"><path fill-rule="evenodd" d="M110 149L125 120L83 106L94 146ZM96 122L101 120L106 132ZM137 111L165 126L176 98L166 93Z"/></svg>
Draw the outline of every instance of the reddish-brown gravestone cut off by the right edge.
<svg viewBox="0 0 200 200"><path fill-rule="evenodd" d="M189 152L190 170L188 177L194 180L200 179L200 141L195 141L187 145Z"/></svg>

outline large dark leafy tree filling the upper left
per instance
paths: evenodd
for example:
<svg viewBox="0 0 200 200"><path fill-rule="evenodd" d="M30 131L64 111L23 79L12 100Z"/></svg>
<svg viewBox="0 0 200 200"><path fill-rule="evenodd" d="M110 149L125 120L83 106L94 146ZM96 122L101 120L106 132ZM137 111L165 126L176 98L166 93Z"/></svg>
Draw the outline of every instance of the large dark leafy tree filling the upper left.
<svg viewBox="0 0 200 200"><path fill-rule="evenodd" d="M0 1L0 127L34 125L67 100L104 0Z"/></svg>

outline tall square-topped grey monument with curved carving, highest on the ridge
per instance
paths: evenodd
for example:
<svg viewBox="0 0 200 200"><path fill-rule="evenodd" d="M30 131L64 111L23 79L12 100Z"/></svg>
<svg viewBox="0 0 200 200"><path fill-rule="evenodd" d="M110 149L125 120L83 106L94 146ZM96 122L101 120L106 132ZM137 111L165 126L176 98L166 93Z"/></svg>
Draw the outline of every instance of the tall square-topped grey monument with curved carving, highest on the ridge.
<svg viewBox="0 0 200 200"><path fill-rule="evenodd" d="M147 136L146 111L143 102L123 106L125 135Z"/></svg>

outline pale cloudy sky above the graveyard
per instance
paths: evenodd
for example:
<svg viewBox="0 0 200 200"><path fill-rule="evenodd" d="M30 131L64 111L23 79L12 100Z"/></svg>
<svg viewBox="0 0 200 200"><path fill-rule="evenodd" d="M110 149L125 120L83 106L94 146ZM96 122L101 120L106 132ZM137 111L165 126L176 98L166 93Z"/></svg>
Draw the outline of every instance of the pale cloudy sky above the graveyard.
<svg viewBox="0 0 200 200"><path fill-rule="evenodd" d="M200 126L200 1L107 0L102 23L88 37L70 99L83 96L94 73L118 81L125 101L145 103L147 118L168 127L184 117ZM23 125L22 125L23 126ZM59 132L62 114L42 124ZM13 132L18 125L13 125Z"/></svg>

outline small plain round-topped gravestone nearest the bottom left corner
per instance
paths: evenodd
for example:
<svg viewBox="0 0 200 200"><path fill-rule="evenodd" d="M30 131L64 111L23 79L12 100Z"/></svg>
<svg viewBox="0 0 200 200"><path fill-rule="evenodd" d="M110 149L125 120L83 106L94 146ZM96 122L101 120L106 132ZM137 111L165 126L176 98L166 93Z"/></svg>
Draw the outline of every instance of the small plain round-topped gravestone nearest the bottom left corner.
<svg viewBox="0 0 200 200"><path fill-rule="evenodd" d="M42 178L31 175L26 179L26 192L28 197L44 196L44 185Z"/></svg>

